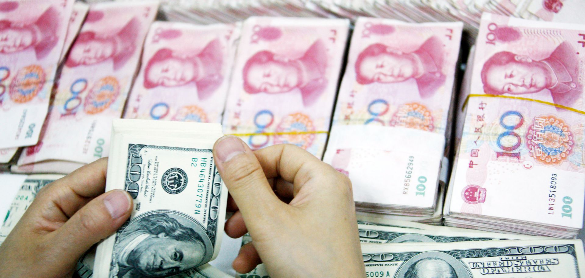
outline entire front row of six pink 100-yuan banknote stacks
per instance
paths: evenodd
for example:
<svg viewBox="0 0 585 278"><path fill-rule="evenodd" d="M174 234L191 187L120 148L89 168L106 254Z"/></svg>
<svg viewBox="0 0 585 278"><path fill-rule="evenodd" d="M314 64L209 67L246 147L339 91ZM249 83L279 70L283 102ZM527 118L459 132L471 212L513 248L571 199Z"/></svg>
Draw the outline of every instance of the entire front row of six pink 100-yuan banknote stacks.
<svg viewBox="0 0 585 278"><path fill-rule="evenodd" d="M69 173L108 155L112 119L222 123L253 149L322 157L352 180L363 215L580 230L585 27L484 13L455 107L461 22L356 17L349 36L340 18L153 23L158 5L1 4L0 161Z"/></svg>

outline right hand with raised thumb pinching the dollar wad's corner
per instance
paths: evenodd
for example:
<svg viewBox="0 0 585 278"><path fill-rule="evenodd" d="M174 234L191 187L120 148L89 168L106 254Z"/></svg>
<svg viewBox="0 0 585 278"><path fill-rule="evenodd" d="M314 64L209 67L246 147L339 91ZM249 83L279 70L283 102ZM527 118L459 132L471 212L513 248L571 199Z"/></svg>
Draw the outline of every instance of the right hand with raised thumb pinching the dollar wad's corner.
<svg viewBox="0 0 585 278"><path fill-rule="evenodd" d="M264 262L273 278L366 276L345 175L294 145L252 151L233 136L215 143L214 157L236 210L225 231L252 237L233 261L236 271Z"/></svg>

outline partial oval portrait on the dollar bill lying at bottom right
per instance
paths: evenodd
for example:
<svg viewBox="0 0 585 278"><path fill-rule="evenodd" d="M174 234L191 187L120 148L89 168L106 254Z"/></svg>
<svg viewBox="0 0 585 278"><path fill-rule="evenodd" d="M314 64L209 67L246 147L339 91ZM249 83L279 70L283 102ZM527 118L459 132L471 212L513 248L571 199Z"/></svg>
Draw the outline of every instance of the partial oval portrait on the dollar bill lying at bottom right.
<svg viewBox="0 0 585 278"><path fill-rule="evenodd" d="M398 272L398 278L471 278L460 260L443 252L420 253L407 260Z"/></svg>

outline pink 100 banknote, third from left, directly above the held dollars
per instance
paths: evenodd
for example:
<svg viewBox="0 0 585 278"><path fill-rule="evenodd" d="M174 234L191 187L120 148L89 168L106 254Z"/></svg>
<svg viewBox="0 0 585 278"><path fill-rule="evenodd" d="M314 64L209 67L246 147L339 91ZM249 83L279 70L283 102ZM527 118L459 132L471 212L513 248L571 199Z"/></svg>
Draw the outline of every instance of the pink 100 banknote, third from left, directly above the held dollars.
<svg viewBox="0 0 585 278"><path fill-rule="evenodd" d="M125 118L221 123L240 26L155 22Z"/></svg>

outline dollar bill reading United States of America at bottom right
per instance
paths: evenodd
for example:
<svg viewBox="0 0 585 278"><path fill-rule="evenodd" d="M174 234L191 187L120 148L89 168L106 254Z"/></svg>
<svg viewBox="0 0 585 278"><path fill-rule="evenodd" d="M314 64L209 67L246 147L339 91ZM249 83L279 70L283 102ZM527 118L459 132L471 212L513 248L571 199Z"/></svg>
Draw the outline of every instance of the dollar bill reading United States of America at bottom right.
<svg viewBox="0 0 585 278"><path fill-rule="evenodd" d="M577 278L583 277L583 242L474 241L362 244L366 277Z"/></svg>

